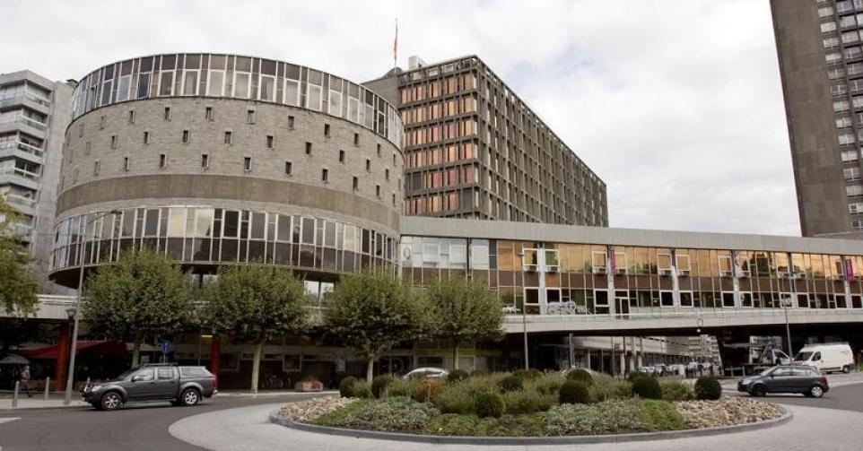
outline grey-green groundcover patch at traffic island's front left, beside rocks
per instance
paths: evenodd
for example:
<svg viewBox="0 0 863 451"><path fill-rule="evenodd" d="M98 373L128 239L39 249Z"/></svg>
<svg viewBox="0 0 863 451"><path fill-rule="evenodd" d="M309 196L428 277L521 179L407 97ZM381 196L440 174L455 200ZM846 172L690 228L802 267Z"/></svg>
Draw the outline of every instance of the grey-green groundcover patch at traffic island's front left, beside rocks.
<svg viewBox="0 0 863 451"><path fill-rule="evenodd" d="M417 431L423 429L440 411L428 403L417 403L403 396L375 401L360 401L336 412L318 417L315 424L338 428L386 431Z"/></svg>

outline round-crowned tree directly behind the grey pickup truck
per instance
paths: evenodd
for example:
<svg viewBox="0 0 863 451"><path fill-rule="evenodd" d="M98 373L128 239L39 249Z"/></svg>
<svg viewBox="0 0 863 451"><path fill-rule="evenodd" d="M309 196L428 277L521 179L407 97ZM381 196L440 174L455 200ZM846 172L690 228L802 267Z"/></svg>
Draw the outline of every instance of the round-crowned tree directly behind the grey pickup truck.
<svg viewBox="0 0 863 451"><path fill-rule="evenodd" d="M173 334L193 314L187 275L163 253L144 247L102 265L84 285L83 319L90 330L133 343L132 366L141 343Z"/></svg>

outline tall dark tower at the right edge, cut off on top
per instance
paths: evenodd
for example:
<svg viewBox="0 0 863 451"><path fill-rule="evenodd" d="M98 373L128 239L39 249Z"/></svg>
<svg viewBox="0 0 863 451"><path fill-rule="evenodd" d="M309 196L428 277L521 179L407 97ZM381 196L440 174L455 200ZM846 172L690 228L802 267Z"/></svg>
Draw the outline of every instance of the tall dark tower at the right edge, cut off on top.
<svg viewBox="0 0 863 451"><path fill-rule="evenodd" d="M804 236L863 237L863 0L771 0Z"/></svg>

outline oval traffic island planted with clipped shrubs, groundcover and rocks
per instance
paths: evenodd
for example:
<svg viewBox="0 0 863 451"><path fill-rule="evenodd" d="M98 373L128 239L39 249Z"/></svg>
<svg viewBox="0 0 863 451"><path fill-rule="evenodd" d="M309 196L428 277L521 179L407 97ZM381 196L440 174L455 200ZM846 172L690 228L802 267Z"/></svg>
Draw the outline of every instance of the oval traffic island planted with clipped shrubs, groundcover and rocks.
<svg viewBox="0 0 863 451"><path fill-rule="evenodd" d="M710 435L780 424L780 406L693 386L587 371L450 373L448 380L348 379L342 397L286 405L271 420L319 433L433 443L595 443Z"/></svg>

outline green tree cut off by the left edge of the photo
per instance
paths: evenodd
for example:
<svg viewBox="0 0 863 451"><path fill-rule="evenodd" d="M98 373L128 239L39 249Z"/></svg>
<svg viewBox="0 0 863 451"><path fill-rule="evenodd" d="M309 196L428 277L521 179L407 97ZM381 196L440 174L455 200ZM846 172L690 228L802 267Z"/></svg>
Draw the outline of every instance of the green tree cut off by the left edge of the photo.
<svg viewBox="0 0 863 451"><path fill-rule="evenodd" d="M15 233L18 215L0 195L0 310L29 315L39 305L39 282L27 246Z"/></svg>

